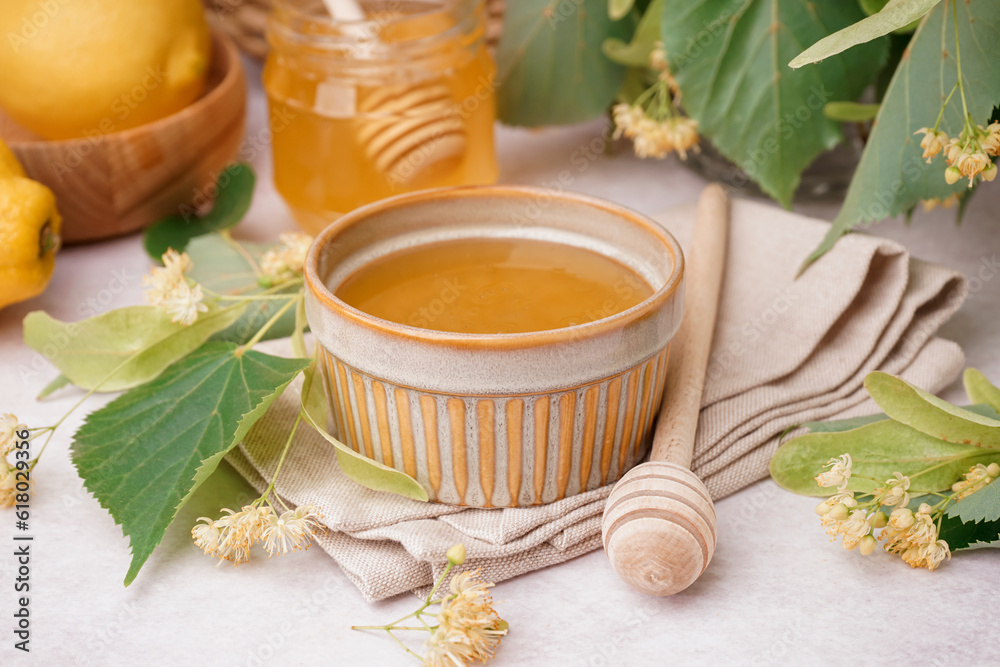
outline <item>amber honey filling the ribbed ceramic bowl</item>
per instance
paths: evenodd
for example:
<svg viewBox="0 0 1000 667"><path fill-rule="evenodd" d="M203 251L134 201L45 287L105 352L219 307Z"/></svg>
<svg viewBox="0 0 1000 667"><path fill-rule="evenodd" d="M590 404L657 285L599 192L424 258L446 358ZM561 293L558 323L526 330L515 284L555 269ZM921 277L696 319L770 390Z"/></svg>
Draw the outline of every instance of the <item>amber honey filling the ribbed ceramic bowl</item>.
<svg viewBox="0 0 1000 667"><path fill-rule="evenodd" d="M369 315L465 334L546 331L610 317L653 289L634 270L585 248L519 238L467 238L397 251L337 290Z"/></svg>

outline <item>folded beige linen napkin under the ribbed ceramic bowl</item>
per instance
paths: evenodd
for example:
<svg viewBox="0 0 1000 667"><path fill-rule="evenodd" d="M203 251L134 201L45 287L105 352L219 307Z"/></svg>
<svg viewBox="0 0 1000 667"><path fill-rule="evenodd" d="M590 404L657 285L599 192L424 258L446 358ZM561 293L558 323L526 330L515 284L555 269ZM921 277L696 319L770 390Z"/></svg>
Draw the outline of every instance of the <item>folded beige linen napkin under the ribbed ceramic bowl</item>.
<svg viewBox="0 0 1000 667"><path fill-rule="evenodd" d="M657 217L687 245L693 204ZM934 333L965 299L964 278L911 259L893 241L851 235L796 280L826 229L766 204L733 201L693 464L713 498L766 477L787 427L877 411L862 385L869 371L937 392L962 370L958 345ZM287 341L260 349L290 354ZM299 388L293 383L227 459L259 490L295 420ZM275 491L289 505L322 508L328 530L318 544L372 601L429 586L458 542L466 545L466 567L481 567L489 581L598 549L610 487L526 508L420 503L358 486L338 468L333 448L303 427Z"/></svg>

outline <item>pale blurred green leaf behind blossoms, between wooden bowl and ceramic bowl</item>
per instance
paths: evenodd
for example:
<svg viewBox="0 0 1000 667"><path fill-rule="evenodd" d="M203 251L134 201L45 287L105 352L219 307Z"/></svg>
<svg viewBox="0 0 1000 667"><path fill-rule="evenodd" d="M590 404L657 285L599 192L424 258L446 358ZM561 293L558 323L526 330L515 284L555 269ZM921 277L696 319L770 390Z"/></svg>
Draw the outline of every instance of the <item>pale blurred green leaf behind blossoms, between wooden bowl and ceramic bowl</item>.
<svg viewBox="0 0 1000 667"><path fill-rule="evenodd" d="M270 247L255 243L240 245L254 261L258 261ZM218 234L209 234L193 240L188 246L188 255L194 265L188 276L214 292L226 296L250 296L259 294L265 289L257 282L257 274L250 262ZM302 286L296 284L272 294L294 295L301 289ZM251 303L242 317L219 331L213 340L246 343L285 303L286 301L276 299ZM278 320L265 334L263 340L286 338L291 336L294 330L295 313L289 312Z"/></svg>

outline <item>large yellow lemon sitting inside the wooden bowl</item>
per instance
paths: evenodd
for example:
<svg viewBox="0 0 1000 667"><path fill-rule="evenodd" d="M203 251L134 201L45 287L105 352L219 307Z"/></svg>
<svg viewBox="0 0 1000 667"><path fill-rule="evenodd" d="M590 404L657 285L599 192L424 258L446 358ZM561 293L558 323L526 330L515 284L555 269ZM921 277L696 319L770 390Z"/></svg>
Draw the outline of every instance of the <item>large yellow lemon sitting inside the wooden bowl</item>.
<svg viewBox="0 0 1000 667"><path fill-rule="evenodd" d="M0 107L47 139L109 134L201 94L199 0L2 0Z"/></svg>

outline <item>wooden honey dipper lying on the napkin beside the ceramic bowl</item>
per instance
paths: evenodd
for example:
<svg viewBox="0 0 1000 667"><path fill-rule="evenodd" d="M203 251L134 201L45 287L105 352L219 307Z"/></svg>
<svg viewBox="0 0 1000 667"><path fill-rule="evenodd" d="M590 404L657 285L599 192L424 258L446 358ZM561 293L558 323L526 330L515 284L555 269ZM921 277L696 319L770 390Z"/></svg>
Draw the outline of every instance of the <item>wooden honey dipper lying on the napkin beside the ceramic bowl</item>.
<svg viewBox="0 0 1000 667"><path fill-rule="evenodd" d="M701 576L715 552L715 507L690 467L728 230L728 198L720 185L711 184L698 201L686 266L684 319L671 343L649 461L621 478L604 509L604 550L612 567L626 583L649 595L684 590Z"/></svg>

